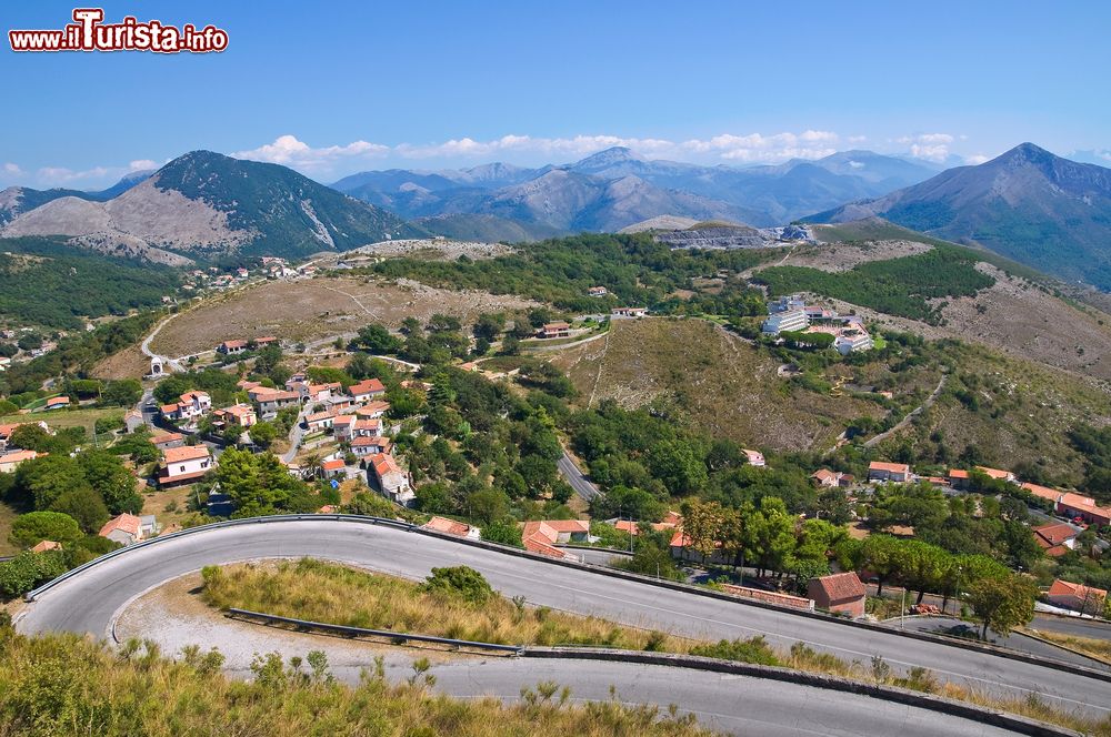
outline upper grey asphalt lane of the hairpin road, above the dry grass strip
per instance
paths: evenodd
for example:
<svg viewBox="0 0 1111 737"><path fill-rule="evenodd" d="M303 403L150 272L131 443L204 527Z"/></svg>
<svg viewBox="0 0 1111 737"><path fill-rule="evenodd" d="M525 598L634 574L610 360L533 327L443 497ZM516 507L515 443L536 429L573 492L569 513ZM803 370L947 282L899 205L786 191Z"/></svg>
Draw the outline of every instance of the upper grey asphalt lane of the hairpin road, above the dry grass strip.
<svg viewBox="0 0 1111 737"><path fill-rule="evenodd" d="M114 617L129 602L171 578L210 564L302 556L414 579L427 576L433 566L468 565L480 571L507 596L522 595L533 605L593 614L689 637L732 639L764 635L778 647L804 642L815 649L859 660L865 670L872 656L879 655L897 669L922 666L939 677L980 691L1020 698L1038 694L1065 710L1099 718L1111 715L1107 698L1111 687L1104 680L990 653L917 640L893 632L801 617L404 529L326 517L213 528L133 548L44 592L21 613L17 626L24 633L76 632L108 637ZM166 626L172 627L173 623L167 622ZM594 672L595 665L584 663L583 677ZM683 680L685 674L675 679L675 697L668 703L684 696L680 683ZM578 685L573 678L565 682L572 687ZM628 696L638 695L630 691ZM870 718L871 710L864 714L868 716L857 715L858 728L864 724L862 718Z"/></svg>

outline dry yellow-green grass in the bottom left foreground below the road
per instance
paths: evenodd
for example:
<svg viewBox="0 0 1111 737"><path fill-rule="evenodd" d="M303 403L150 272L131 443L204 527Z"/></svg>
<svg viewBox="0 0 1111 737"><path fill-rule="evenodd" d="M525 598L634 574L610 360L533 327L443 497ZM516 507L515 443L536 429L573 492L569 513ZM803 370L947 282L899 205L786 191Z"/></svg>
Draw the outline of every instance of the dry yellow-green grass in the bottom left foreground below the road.
<svg viewBox="0 0 1111 737"><path fill-rule="evenodd" d="M459 700L427 684L391 685L381 665L356 687L271 660L251 683L219 672L200 653L160 657L152 643L117 653L76 635L0 635L0 737L47 735L381 735L418 737L536 734L614 737L709 735L693 718L617 700L572 706L570 689L539 685L531 699Z"/></svg>

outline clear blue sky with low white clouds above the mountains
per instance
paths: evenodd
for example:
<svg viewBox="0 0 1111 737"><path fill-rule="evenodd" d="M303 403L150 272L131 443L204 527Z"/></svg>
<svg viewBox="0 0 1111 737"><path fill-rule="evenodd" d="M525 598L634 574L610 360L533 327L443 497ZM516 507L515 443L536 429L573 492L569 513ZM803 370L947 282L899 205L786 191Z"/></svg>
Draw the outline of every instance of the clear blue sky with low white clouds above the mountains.
<svg viewBox="0 0 1111 737"><path fill-rule="evenodd" d="M229 48L17 54L4 38L0 185L93 188L201 148L324 182L618 143L732 165L1111 150L1111 3L1053 4L107 2L109 22L212 23ZM72 8L0 18L54 29Z"/></svg>

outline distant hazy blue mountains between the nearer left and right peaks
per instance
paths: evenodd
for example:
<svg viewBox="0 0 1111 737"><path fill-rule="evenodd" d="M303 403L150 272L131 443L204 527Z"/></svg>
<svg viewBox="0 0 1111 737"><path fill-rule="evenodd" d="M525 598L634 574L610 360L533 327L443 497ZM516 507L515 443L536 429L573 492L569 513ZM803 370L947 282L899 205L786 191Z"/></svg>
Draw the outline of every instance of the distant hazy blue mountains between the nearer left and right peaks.
<svg viewBox="0 0 1111 737"><path fill-rule="evenodd" d="M457 235L450 231L463 223L474 228L481 215L488 231L512 226L542 236L615 231L661 214L770 226L934 173L869 151L741 169L649 160L614 147L570 164L391 169L346 176L332 186L434 232Z"/></svg>

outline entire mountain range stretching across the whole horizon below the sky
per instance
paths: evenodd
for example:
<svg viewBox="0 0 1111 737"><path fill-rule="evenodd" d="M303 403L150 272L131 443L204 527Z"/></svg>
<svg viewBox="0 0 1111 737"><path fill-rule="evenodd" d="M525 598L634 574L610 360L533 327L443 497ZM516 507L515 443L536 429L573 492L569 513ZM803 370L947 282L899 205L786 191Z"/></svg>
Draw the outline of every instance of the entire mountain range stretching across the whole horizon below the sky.
<svg viewBox="0 0 1111 737"><path fill-rule="evenodd" d="M872 218L1111 290L1111 170L1031 143L940 173L868 151L739 169L612 148L562 165L370 171L332 186L278 164L193 151L99 192L0 192L0 238L61 235L170 265L301 258L430 233L521 242L645 221L767 228Z"/></svg>

